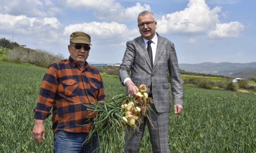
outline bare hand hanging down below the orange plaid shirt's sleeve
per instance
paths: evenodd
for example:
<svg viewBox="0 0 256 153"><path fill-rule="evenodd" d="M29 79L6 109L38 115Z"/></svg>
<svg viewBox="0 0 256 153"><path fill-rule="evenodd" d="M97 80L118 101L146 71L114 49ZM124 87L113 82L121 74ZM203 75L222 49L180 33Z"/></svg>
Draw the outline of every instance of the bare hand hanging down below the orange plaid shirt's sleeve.
<svg viewBox="0 0 256 153"><path fill-rule="evenodd" d="M44 120L42 119L35 119L35 126L32 131L32 136L37 142L37 144L41 144L41 136L43 140L45 140L45 127L44 127Z"/></svg>

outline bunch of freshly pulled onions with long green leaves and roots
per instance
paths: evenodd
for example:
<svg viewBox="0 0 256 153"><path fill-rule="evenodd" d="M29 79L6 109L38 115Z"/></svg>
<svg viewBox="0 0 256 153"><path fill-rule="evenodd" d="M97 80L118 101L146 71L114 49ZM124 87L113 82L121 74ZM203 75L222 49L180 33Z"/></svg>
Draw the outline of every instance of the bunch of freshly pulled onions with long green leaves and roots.
<svg viewBox="0 0 256 153"><path fill-rule="evenodd" d="M144 85L145 86L145 85ZM95 133L98 134L101 151L114 152L116 145L114 141L124 142L124 133L127 127L139 130L141 118L147 116L146 111L151 109L149 103L153 103L151 98L145 96L146 89L142 86L142 96L129 97L127 94L116 95L108 101L95 101L87 107L88 115L93 118L91 130L84 144L89 142ZM151 109L152 110L152 109ZM151 123L152 124L152 123ZM86 125L80 125L86 126ZM101 141L103 143L101 143Z"/></svg>

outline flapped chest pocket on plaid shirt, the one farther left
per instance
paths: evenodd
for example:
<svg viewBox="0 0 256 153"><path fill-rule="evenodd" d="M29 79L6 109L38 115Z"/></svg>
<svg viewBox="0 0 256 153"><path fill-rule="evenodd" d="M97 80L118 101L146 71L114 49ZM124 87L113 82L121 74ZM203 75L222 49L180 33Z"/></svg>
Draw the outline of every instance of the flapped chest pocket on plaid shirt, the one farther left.
<svg viewBox="0 0 256 153"><path fill-rule="evenodd" d="M62 81L64 87L64 93L68 96L74 96L79 94L78 82L75 79L67 79Z"/></svg>

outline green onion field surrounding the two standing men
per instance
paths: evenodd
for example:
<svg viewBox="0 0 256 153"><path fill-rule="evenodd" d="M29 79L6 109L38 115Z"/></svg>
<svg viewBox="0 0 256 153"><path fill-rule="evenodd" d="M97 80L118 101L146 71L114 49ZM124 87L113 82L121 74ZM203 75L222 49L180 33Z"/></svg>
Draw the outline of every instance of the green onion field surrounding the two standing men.
<svg viewBox="0 0 256 153"><path fill-rule="evenodd" d="M33 108L45 68L0 62L0 152L49 153L53 149L50 117L45 120L46 140L32 138ZM107 98L123 94L117 77L103 76ZM124 152L117 138L115 153ZM141 153L151 153L146 130ZM182 114L169 118L169 152L256 152L256 95L184 87Z"/></svg>

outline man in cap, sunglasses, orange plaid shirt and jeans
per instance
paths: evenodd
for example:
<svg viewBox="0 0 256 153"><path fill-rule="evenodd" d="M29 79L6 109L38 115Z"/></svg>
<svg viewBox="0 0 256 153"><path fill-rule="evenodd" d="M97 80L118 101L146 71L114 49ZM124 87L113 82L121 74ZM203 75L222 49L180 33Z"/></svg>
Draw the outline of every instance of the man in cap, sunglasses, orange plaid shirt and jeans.
<svg viewBox="0 0 256 153"><path fill-rule="evenodd" d="M82 145L95 115L83 104L106 100L99 71L86 62L90 45L88 34L73 32L68 45L69 59L51 64L42 81L34 109L33 138L38 144L41 137L45 140L44 119L53 107L53 152L99 152L97 134L91 142Z"/></svg>

